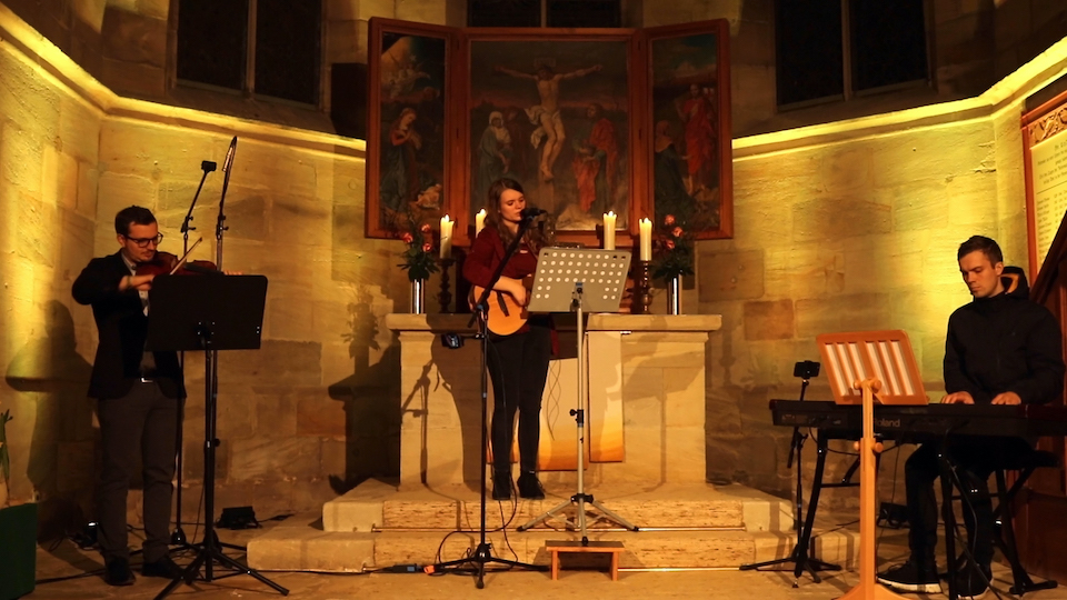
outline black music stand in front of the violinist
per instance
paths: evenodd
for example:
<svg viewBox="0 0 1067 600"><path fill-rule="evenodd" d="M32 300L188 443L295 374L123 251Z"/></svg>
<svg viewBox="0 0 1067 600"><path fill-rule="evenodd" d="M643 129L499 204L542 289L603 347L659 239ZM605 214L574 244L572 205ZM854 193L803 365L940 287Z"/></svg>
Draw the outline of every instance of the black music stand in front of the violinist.
<svg viewBox="0 0 1067 600"><path fill-rule="evenodd" d="M158 596L164 598L178 583L191 583L203 566L203 580L212 581L218 562L270 586L282 596L289 590L255 569L242 566L220 550L215 533L215 452L218 442L217 398L212 368L219 350L256 350L260 347L267 278L263 276L160 277L149 291L151 311L146 348L152 351L203 350L203 541L193 544L197 557Z"/></svg>

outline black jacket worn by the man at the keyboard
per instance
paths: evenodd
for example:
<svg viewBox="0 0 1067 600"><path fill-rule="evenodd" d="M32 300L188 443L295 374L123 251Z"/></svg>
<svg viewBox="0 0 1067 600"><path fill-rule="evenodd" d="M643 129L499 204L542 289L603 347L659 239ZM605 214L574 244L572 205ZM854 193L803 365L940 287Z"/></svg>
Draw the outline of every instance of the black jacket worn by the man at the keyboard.
<svg viewBox="0 0 1067 600"><path fill-rule="evenodd" d="M1008 268L1011 269L1011 268ZM988 404L1013 391L1026 404L1059 397L1064 386L1059 323L1028 298L1026 277L1015 289L979 298L948 319L945 340L945 391L967 391L976 404Z"/></svg>

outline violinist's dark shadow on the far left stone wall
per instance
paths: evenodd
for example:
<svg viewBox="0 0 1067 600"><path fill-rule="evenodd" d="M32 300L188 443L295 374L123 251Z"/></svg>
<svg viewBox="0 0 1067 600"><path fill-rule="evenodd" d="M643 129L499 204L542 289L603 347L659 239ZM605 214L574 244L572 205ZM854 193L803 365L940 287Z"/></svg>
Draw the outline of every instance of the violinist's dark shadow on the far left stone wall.
<svg viewBox="0 0 1067 600"><path fill-rule="evenodd" d="M40 503L38 537L49 541L81 531L86 522L98 433L96 404L86 396L92 366L77 352L70 309L57 300L44 309L44 334L27 340L8 364L4 381L19 392L12 416L27 416L20 419L24 423L30 410L36 412L26 474ZM19 490L18 479L14 484L13 497L29 496Z"/></svg>

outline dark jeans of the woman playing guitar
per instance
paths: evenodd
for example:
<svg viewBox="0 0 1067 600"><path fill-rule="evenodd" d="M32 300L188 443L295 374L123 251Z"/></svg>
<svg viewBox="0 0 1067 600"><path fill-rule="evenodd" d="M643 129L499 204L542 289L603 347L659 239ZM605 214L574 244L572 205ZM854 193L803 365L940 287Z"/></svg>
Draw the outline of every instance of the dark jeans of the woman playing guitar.
<svg viewBox="0 0 1067 600"><path fill-rule="evenodd" d="M530 330L489 338L489 377L492 379L492 469L511 471L515 413L519 413L519 468L537 470L541 434L541 393L552 353L551 329L530 324Z"/></svg>

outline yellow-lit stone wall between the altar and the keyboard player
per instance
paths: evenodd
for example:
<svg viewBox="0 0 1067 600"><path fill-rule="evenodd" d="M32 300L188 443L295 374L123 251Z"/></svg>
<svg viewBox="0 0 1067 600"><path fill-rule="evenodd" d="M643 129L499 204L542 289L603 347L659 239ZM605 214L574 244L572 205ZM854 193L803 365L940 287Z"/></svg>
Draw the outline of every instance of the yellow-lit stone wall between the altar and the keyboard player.
<svg viewBox="0 0 1067 600"><path fill-rule="evenodd" d="M1060 71L1065 50L1057 46ZM904 329L928 396L943 396L948 316L970 300L958 244L990 236L1007 263L1027 268L1018 123L1029 92L1013 93L984 94L977 104L1004 103L981 118L958 119L976 104L965 101L934 116L916 109L900 114L907 124L881 130L885 118L872 117L822 136L736 140L736 234L698 244L687 298L722 314L708 362L709 479L789 493L791 432L770 424L767 403L797 398L792 364L820 360L819 333ZM807 399L832 399L825 372ZM850 462L831 458L828 478ZM882 471L887 488L893 472ZM835 492L830 501L855 500Z"/></svg>

